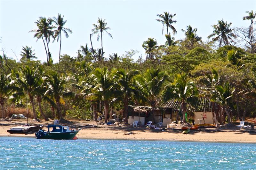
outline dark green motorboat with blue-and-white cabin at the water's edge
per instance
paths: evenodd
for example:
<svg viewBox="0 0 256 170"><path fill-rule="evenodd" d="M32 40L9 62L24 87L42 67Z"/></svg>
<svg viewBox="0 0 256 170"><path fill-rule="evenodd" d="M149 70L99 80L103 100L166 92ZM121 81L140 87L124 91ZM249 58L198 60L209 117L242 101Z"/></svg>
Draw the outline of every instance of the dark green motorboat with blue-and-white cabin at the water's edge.
<svg viewBox="0 0 256 170"><path fill-rule="evenodd" d="M37 139L73 139L79 132L79 129L69 129L68 126L61 125L48 125L48 130L44 131L40 129L36 132Z"/></svg>

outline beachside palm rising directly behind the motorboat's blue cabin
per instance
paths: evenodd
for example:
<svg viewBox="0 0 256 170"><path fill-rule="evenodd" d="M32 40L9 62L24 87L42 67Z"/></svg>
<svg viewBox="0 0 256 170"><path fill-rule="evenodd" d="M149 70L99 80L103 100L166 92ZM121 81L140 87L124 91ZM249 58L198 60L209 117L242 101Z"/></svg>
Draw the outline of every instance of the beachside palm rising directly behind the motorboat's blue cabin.
<svg viewBox="0 0 256 170"><path fill-rule="evenodd" d="M44 95L49 96L54 100L57 107L57 114L60 120L63 120L60 104L65 105L63 94L65 93L66 79L63 77L63 75L59 76L59 74L55 71L52 71L48 75L44 75L44 78L47 87Z"/></svg>

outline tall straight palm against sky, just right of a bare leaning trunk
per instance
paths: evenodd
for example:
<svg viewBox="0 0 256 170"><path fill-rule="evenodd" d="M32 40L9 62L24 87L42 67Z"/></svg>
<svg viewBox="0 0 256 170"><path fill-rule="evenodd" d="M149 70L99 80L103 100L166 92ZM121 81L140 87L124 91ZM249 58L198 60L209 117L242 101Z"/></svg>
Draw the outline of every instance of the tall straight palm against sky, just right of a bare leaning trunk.
<svg viewBox="0 0 256 170"><path fill-rule="evenodd" d="M106 27L107 23L105 22L105 19L102 20L102 18L101 19L98 18L98 25L96 24L92 24L92 25L94 26L94 28L92 29L92 34L96 34L96 33L98 34L97 41L99 41L101 36L101 56L103 56L102 33L105 31L111 38L113 38L112 35L107 31L107 30L110 30L110 28Z"/></svg>

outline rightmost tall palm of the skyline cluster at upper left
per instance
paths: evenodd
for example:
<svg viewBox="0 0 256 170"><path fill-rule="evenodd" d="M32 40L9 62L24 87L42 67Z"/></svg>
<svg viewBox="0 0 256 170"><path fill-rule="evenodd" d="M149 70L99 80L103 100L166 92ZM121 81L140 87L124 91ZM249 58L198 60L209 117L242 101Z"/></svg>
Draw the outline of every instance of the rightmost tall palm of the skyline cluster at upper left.
<svg viewBox="0 0 256 170"><path fill-rule="evenodd" d="M59 38L60 38L60 48L61 48L61 31L63 31L63 33L65 34L65 36L67 38L68 38L68 32L72 33L71 29L64 28L64 25L66 24L67 20L65 21L63 18L64 18L64 16L61 17L61 14L58 14L58 17L57 18L53 17L53 20L52 20L55 23L56 28L57 28L54 31L55 37L58 37L57 41L59 41ZM59 53L59 60L60 60L60 53Z"/></svg>

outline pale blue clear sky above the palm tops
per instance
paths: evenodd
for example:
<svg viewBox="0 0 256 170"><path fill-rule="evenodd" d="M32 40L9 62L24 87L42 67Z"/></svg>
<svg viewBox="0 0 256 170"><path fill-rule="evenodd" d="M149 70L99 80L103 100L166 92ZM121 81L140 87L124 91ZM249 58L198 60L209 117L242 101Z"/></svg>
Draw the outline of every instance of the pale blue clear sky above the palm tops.
<svg viewBox="0 0 256 170"><path fill-rule="evenodd" d="M36 57L42 62L46 61L44 44L41 39L36 41L34 23L39 17L57 17L58 13L67 20L65 27L72 30L66 38L62 36L61 55L77 56L81 45L88 44L91 48L90 34L92 24L97 24L98 17L106 19L107 26L111 28L103 34L103 50L105 57L109 54L125 54L125 51L138 50L134 55L136 61L140 55L145 59L145 50L142 44L149 37L155 38L158 45L165 43L162 35L163 25L156 21L157 14L169 11L176 14L173 18L177 23L173 26L177 30L175 40L184 39L181 29L191 25L197 28L197 35L203 41L208 41L207 36L213 31L211 27L218 20L232 22L231 26L249 27L250 21L243 21L245 11L256 11L256 0L179 0L179 1L85 1L85 0L0 0L0 54L4 53L13 59L20 59L22 46L31 46L35 49ZM63 34L62 34L63 35ZM173 36L173 35L172 35ZM60 41L49 44L54 63L59 59ZM97 35L92 36L93 48L100 48ZM16 54L16 56L15 56Z"/></svg>

